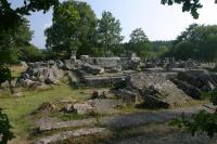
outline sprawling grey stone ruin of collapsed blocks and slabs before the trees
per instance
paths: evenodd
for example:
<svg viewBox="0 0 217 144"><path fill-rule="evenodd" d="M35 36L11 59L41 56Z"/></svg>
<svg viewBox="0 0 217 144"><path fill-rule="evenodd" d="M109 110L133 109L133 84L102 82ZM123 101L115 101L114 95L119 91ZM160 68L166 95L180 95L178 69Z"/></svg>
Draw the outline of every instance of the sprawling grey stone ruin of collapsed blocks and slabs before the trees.
<svg viewBox="0 0 217 144"><path fill-rule="evenodd" d="M140 58L135 54L125 57L89 57L76 60L28 63L28 68L16 81L16 87L38 88L58 84L68 78L75 87L111 87L124 101L142 100L154 107L178 106L200 99L217 86L217 74L207 73L201 63Z"/></svg>

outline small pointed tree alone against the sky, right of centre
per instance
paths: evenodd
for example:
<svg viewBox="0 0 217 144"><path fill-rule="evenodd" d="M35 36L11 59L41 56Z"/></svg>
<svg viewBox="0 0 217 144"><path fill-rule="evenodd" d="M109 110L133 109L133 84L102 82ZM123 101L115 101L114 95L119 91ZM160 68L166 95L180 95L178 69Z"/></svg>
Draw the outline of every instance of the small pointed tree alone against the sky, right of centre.
<svg viewBox="0 0 217 144"><path fill-rule="evenodd" d="M136 52L141 57L151 55L151 43L142 28L136 28L130 34L128 51Z"/></svg>

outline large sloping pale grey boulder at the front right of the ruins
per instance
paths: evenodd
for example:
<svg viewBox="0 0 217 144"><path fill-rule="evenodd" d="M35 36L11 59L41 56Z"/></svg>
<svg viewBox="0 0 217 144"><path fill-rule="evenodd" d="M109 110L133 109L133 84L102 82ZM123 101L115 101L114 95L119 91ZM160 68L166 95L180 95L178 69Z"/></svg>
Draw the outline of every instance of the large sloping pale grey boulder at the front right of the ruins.
<svg viewBox="0 0 217 144"><path fill-rule="evenodd" d="M128 89L138 90L148 104L163 104L163 107L167 107L166 105L178 106L192 100L163 74L135 74L126 81Z"/></svg>

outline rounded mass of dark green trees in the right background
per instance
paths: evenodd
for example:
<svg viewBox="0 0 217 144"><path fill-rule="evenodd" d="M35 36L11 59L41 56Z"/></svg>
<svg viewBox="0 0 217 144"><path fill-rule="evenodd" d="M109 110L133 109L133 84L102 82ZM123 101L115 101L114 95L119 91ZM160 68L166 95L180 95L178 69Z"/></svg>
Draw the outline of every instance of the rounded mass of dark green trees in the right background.
<svg viewBox="0 0 217 144"><path fill-rule="evenodd" d="M200 61L216 61L217 26L190 25L173 42L170 56L177 60L194 58Z"/></svg>

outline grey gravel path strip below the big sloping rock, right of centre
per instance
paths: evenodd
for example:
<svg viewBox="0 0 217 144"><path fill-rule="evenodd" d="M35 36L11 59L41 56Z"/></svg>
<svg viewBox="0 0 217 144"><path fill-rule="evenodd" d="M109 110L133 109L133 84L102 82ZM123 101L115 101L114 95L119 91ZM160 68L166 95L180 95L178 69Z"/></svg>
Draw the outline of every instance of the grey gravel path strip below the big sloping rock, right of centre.
<svg viewBox="0 0 217 144"><path fill-rule="evenodd" d="M204 107L189 107L189 108L179 108L179 109L169 109L163 112L153 112L153 113L137 113L129 115L118 115L113 117L103 117L99 121L112 128L125 128L125 127L137 127L140 125L145 125L150 122L166 122L170 119L174 119L184 113L187 116L195 114L205 109Z"/></svg>

